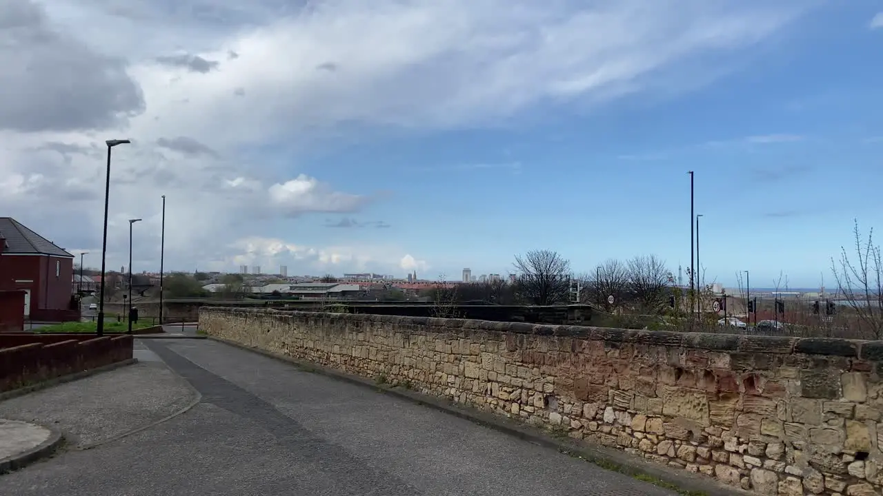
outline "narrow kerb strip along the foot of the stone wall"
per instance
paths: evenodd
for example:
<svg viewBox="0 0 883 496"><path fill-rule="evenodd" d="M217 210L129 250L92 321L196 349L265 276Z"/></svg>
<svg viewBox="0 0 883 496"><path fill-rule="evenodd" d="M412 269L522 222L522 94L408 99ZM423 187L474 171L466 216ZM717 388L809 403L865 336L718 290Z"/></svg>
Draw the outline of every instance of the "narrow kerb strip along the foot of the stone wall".
<svg viewBox="0 0 883 496"><path fill-rule="evenodd" d="M215 336L207 337L216 342L223 342L224 344L229 344L230 346L235 346L239 349L245 349L246 351L251 351L264 357L292 364L306 372L320 373L321 375L333 379L343 380L362 387L369 387L381 393L415 402L419 405L433 408L434 410L440 410L450 415L464 418L475 424L494 429L495 431L504 432L543 447L553 448L566 455L577 456L585 459L587 462L599 465L602 468L615 470L632 477L653 477L666 485L676 487L680 492L701 493L707 496L745 496L746 494L751 494L751 492L746 492L742 489L721 485L709 477L692 474L683 470L668 470L659 464L648 462L638 456L629 455L621 450L594 446L572 438L568 438L567 440L555 439L540 429L517 423L509 418L464 407L463 405L448 402L434 396L424 395L410 389L377 384L374 380L368 380L358 375L341 372L336 369L313 364L312 362L287 357L264 349L253 348L251 346L246 346L238 342Z"/></svg>

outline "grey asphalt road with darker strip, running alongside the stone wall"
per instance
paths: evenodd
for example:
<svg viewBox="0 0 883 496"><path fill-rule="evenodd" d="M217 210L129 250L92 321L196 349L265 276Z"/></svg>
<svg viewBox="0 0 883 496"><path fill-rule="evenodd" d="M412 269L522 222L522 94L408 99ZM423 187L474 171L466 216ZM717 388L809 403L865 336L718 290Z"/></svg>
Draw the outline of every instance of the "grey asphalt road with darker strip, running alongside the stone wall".
<svg viewBox="0 0 883 496"><path fill-rule="evenodd" d="M0 494L673 494L220 342L139 346L141 360L170 366L199 390L201 402L122 439L0 476ZM84 382L71 383L78 384ZM85 387L80 393L90 395Z"/></svg>

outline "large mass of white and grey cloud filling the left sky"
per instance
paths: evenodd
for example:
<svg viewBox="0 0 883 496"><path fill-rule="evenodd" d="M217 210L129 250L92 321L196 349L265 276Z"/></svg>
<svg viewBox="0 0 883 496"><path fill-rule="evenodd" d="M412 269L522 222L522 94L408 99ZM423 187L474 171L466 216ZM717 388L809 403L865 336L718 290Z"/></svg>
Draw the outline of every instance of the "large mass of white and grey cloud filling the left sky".
<svg viewBox="0 0 883 496"><path fill-rule="evenodd" d="M540 105L638 94L664 74L706 80L728 52L764 41L804 9L791 0L165 4L0 2L8 90L0 92L0 210L65 247L94 251L103 140L132 139L113 150L110 267L127 258L130 217L145 219L135 258L158 265L162 194L170 267L272 258L266 250L276 244L228 241L272 238L256 219L349 213L374 198L302 174L301 152L374 128L509 123ZM408 252L388 260L371 246L282 246L285 256L347 270L402 268Z"/></svg>

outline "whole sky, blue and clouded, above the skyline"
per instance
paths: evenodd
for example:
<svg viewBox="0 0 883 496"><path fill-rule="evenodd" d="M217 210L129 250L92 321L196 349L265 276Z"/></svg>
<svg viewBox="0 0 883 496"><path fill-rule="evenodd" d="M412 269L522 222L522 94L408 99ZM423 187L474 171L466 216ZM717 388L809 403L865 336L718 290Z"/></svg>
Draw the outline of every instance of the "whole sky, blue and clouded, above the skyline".
<svg viewBox="0 0 883 496"><path fill-rule="evenodd" d="M4 0L0 215L100 266L832 286L883 229L879 0ZM688 225L688 222L690 224Z"/></svg>

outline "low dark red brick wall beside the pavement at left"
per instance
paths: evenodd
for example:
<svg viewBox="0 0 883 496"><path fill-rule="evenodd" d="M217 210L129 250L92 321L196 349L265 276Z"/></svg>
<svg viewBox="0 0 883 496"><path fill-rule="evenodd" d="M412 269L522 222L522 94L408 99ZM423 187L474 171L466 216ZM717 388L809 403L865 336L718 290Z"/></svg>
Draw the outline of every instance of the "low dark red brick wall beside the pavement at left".
<svg viewBox="0 0 883 496"><path fill-rule="evenodd" d="M24 342L26 337L31 338L29 343ZM4 334L0 336L0 393L130 359L132 342L131 335ZM6 347L10 344L15 345Z"/></svg>

